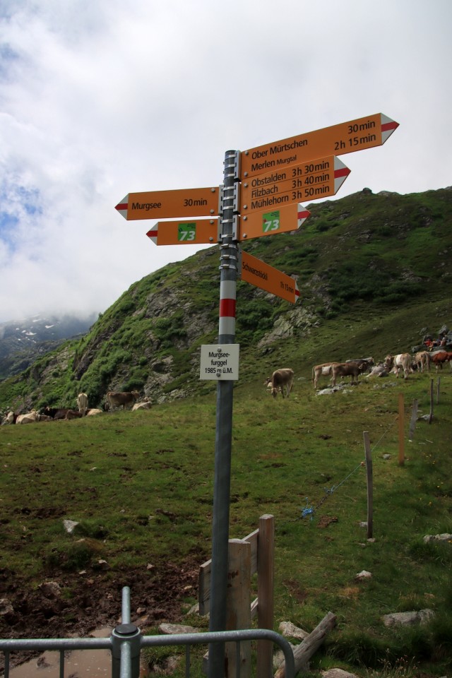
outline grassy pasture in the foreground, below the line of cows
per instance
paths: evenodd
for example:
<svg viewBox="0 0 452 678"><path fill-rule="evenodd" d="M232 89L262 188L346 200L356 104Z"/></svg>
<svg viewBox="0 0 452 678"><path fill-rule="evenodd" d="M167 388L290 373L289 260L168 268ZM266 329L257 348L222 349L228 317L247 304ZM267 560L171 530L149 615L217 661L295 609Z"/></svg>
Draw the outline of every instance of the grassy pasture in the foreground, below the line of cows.
<svg viewBox="0 0 452 678"><path fill-rule="evenodd" d="M452 544L423 537L452 533L452 371L407 382L362 378L316 395L310 367L296 370L289 399L274 400L261 370L253 379L244 366L234 388L230 538L249 534L264 513L275 516L275 631L281 621L311 631L328 611L337 616L314 672L450 674ZM432 380L432 423L420 418L409 441L412 405L429 414ZM112 571L189 554L201 565L210 557L215 410L210 391L148 411L1 427L4 566L35 587L52 564L76 573L99 557ZM371 542L360 524L364 432L374 472ZM307 507L313 511L303 517ZM65 519L80 523L76 533L66 533ZM81 534L89 537L83 548ZM362 570L371 578L358 581ZM425 608L435 612L425 626L383 625L384 614Z"/></svg>

